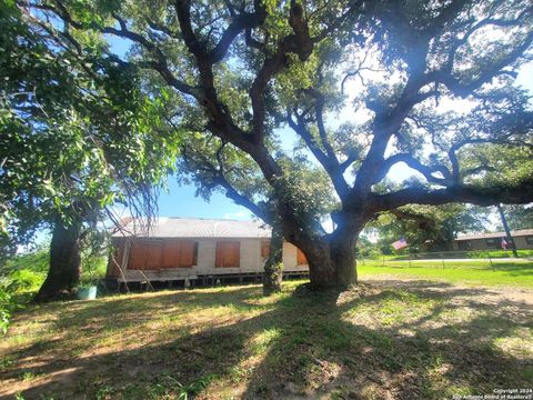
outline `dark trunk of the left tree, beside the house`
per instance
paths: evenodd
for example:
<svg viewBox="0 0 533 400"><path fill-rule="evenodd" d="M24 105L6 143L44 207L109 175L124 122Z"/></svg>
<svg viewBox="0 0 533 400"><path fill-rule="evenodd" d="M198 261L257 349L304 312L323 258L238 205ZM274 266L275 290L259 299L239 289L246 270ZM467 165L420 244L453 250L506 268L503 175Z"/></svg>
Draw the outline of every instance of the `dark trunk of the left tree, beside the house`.
<svg viewBox="0 0 533 400"><path fill-rule="evenodd" d="M62 221L56 222L50 244L50 269L33 301L47 302L72 296L81 274L80 236L81 223L66 227Z"/></svg>

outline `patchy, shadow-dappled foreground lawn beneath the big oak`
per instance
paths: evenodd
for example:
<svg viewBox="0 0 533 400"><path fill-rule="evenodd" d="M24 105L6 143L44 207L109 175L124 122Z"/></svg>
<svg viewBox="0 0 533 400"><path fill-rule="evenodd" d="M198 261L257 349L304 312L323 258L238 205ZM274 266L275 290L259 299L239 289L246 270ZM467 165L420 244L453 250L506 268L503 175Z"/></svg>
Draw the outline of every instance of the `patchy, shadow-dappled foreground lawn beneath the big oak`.
<svg viewBox="0 0 533 400"><path fill-rule="evenodd" d="M302 296L290 281L270 298L234 286L29 307L0 341L0 398L443 399L531 388L533 291L374 269L340 297Z"/></svg>

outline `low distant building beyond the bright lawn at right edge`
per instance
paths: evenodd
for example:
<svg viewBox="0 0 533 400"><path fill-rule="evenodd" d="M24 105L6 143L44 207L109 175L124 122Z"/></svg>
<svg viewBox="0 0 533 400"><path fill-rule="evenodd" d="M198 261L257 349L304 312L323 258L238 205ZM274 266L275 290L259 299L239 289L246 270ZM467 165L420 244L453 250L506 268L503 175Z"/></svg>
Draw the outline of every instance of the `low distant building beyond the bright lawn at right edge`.
<svg viewBox="0 0 533 400"><path fill-rule="evenodd" d="M501 250L505 232L460 234L453 242L454 250ZM533 229L511 231L516 249L533 249Z"/></svg>

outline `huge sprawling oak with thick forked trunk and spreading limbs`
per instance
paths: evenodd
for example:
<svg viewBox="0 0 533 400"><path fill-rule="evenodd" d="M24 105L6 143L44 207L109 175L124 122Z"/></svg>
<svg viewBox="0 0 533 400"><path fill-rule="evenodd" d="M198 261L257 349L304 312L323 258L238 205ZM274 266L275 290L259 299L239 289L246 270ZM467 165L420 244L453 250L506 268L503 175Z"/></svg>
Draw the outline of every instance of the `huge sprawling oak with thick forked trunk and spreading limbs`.
<svg viewBox="0 0 533 400"><path fill-rule="evenodd" d="M533 199L531 102L513 86L531 60L529 2L19 6L81 43L81 58L93 56L83 34L128 42L115 61L142 71L143 92L165 93L165 123L184 137L182 172L265 221L275 210L314 288L356 282L354 246L380 212ZM521 167L502 166L501 151ZM385 184L399 163L416 177Z"/></svg>

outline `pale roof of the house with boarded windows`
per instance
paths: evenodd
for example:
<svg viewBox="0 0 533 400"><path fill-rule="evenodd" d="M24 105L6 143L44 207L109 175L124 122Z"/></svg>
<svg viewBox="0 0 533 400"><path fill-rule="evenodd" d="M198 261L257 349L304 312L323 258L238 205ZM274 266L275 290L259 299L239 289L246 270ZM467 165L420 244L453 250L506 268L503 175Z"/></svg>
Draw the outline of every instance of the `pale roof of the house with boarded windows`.
<svg viewBox="0 0 533 400"><path fill-rule="evenodd" d="M270 238L271 229L259 221L239 221L203 218L155 218L150 230L142 220L125 221L114 238Z"/></svg>

